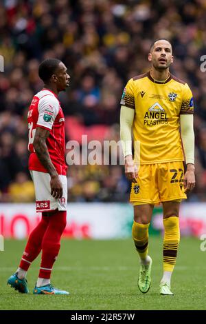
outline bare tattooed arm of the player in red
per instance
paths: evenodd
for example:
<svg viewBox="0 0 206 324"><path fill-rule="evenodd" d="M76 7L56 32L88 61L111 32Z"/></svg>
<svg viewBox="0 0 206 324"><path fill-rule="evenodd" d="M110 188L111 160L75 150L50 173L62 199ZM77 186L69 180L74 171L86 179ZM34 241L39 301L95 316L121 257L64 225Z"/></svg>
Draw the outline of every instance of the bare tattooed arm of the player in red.
<svg viewBox="0 0 206 324"><path fill-rule="evenodd" d="M46 130L45 128L37 127L34 136L33 145L39 161L51 176L51 181L50 181L51 194L54 198L59 199L62 197L62 183L60 182L58 173L56 172L56 169L54 168L54 164L52 163L52 160L49 156L49 152L46 144L46 140L48 136L49 136L49 130Z"/></svg>

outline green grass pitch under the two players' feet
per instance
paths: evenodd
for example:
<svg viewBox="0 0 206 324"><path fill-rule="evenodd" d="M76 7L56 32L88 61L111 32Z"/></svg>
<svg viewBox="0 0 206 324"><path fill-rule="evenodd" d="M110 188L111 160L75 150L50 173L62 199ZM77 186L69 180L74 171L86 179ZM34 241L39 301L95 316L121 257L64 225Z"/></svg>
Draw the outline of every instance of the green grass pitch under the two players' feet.
<svg viewBox="0 0 206 324"><path fill-rule="evenodd" d="M139 261L132 239L118 241L62 240L52 283L69 296L33 295L40 258L27 274L30 294L19 294L6 281L17 265L25 241L5 241L0 252L0 310L206 310L206 252L201 241L181 239L172 277L174 296L159 296L162 238L150 236L152 285L137 288Z"/></svg>

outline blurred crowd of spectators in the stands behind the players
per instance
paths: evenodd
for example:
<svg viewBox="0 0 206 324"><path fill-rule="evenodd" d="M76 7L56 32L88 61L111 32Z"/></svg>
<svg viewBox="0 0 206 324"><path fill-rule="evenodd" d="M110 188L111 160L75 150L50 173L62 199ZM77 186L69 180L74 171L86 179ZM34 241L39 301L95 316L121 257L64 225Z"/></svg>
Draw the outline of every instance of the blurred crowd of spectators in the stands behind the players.
<svg viewBox="0 0 206 324"><path fill-rule="evenodd" d="M124 85L149 70L150 44L158 38L171 41L171 72L194 94L196 188L189 201L206 201L205 16L205 0L1 1L0 201L34 201L27 109L43 86L39 63L56 57L67 65L71 86L60 94L66 121L73 118L87 130L104 125L106 138L116 140ZM68 125L67 141L72 140ZM128 201L130 183L122 165L71 165L68 180L69 201Z"/></svg>

